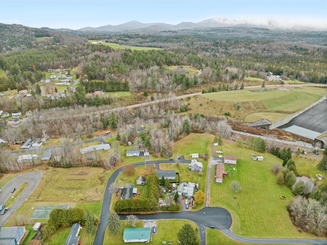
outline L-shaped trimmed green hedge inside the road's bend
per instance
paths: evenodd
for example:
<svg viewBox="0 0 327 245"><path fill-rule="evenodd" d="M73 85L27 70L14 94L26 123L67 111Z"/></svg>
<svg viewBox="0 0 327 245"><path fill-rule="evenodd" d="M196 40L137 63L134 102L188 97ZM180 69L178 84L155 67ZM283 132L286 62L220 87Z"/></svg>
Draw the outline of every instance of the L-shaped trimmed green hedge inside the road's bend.
<svg viewBox="0 0 327 245"><path fill-rule="evenodd" d="M146 185L147 198L129 198L118 200L114 204L117 213L154 212L158 210L159 177L155 171L148 176Z"/></svg>

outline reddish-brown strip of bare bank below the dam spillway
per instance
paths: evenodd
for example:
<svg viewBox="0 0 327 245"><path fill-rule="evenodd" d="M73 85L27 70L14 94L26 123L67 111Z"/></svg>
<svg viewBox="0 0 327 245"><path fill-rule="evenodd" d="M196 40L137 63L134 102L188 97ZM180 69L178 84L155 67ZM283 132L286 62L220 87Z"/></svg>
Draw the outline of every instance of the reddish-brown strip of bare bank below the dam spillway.
<svg viewBox="0 0 327 245"><path fill-rule="evenodd" d="M254 135L261 135L261 136L275 136L281 140L288 140L288 141L303 141L306 143L312 144L312 140L303 136L296 135L295 133L291 133L285 131L283 129L275 128L275 129L262 129L262 128L255 128L249 127L243 124L231 124L230 125L233 130L242 131L253 133Z"/></svg>

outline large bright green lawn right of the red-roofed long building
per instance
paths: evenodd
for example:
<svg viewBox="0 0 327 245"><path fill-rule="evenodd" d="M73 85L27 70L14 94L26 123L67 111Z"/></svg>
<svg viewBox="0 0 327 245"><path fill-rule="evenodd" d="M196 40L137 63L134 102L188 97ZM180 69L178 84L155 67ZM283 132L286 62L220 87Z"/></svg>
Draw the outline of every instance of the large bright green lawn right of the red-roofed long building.
<svg viewBox="0 0 327 245"><path fill-rule="evenodd" d="M233 232L251 237L313 237L298 232L289 218L286 206L293 194L286 185L276 185L276 175L271 172L271 165L281 163L280 159L270 153L237 147L231 141L226 141L222 148L224 154L237 155L238 161L233 166L224 165L230 177L223 179L223 183L211 183L210 204L228 209ZM251 153L262 155L264 161L253 161ZM243 188L239 193L229 187L233 180ZM282 195L286 196L285 201L279 198Z"/></svg>

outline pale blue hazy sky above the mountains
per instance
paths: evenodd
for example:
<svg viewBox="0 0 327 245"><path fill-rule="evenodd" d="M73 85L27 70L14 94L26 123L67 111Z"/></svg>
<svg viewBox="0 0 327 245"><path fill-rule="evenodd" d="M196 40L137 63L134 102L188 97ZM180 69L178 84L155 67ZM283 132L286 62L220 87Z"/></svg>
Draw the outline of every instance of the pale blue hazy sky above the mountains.
<svg viewBox="0 0 327 245"><path fill-rule="evenodd" d="M70 28L142 23L178 24L227 17L248 23L293 26L300 24L327 30L326 0L0 0L0 23L28 27Z"/></svg>

